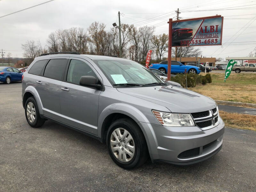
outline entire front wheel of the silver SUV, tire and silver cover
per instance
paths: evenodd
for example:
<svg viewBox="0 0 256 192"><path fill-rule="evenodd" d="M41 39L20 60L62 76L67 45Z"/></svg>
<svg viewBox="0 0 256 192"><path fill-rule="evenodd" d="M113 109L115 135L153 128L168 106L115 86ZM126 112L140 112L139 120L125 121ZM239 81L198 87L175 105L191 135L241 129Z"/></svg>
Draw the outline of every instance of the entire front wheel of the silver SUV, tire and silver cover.
<svg viewBox="0 0 256 192"><path fill-rule="evenodd" d="M130 119L113 122L107 133L108 153L112 160L124 169L144 164L148 147L140 127Z"/></svg>

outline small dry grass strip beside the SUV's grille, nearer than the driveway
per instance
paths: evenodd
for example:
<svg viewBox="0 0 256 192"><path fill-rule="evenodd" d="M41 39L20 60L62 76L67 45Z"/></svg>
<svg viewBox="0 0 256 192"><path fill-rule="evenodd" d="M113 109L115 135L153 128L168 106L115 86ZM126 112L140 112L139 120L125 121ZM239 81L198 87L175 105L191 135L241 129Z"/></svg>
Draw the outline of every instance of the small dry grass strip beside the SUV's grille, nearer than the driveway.
<svg viewBox="0 0 256 192"><path fill-rule="evenodd" d="M228 113L225 111L219 112L226 126L256 131L256 116L238 113Z"/></svg>

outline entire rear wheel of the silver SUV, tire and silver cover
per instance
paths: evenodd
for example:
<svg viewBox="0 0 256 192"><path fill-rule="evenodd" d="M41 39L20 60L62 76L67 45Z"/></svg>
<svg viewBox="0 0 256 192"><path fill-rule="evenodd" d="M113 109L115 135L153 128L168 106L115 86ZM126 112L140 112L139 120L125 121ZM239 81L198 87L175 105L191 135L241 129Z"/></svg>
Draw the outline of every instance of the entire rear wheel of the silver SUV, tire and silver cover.
<svg viewBox="0 0 256 192"><path fill-rule="evenodd" d="M41 127L45 122L39 115L38 106L34 97L29 97L26 101L25 116L31 127Z"/></svg>

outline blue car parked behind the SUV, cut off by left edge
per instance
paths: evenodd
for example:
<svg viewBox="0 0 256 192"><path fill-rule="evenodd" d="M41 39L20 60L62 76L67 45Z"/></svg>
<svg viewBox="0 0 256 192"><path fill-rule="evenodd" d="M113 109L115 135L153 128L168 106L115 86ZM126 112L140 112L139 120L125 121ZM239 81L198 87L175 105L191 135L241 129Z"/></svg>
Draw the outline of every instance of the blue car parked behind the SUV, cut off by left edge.
<svg viewBox="0 0 256 192"><path fill-rule="evenodd" d="M0 67L0 82L10 84L12 81L21 81L23 73L14 67Z"/></svg>

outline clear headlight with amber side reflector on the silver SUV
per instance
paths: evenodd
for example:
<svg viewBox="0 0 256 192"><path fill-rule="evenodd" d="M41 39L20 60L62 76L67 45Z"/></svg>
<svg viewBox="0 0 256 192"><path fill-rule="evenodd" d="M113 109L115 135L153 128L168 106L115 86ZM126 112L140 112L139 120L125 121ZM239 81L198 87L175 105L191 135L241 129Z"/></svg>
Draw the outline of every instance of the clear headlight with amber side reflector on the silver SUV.
<svg viewBox="0 0 256 192"><path fill-rule="evenodd" d="M152 110L156 119L165 126L195 126L190 114L164 113Z"/></svg>

